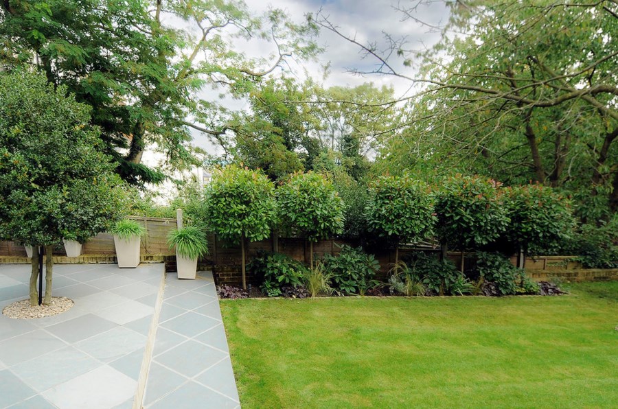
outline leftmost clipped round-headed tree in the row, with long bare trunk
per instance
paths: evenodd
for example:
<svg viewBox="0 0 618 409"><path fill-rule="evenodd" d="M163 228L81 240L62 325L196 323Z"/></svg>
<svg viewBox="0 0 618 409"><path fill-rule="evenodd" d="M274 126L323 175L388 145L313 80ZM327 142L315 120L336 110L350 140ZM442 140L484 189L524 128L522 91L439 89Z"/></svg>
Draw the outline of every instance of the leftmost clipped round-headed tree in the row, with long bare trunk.
<svg viewBox="0 0 618 409"><path fill-rule="evenodd" d="M262 173L229 165L213 174L204 191L203 220L214 233L232 242L240 240L242 288L245 275L245 242L257 242L271 233L277 215L275 187Z"/></svg>

